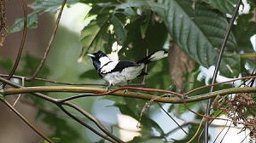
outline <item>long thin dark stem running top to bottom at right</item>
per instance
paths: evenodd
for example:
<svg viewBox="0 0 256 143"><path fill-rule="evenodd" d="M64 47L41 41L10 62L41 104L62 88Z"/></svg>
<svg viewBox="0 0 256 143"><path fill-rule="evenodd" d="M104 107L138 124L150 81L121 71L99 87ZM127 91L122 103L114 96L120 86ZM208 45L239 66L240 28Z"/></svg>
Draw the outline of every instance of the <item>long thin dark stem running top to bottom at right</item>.
<svg viewBox="0 0 256 143"><path fill-rule="evenodd" d="M220 49L219 54L218 54L218 60L217 60L217 63L216 63L216 66L215 66L215 69L214 69L214 72L213 72L213 76L212 76L212 84L215 83L215 81L216 81L216 77L218 75L218 69L219 69L219 66L220 66L220 63L221 63L221 60L222 60L222 56L224 54L224 49L225 49L226 43L228 41L228 38L230 36L231 28L234 24L234 21L236 20L236 15L238 13L238 9L239 9L240 4L241 4L241 0L237 0L236 9L234 11L234 14L232 14L230 24L228 26L228 29L227 29L225 35L224 35L224 41L221 45L221 49ZM210 92L212 92L213 90L214 90L214 86L211 87ZM212 100L209 99L208 102L207 102L206 116L208 116L210 114L211 104L212 104ZM209 123L209 121L207 120L206 123L205 123L205 127L204 127L205 128L205 143L208 143L208 128L209 128L208 123Z"/></svg>

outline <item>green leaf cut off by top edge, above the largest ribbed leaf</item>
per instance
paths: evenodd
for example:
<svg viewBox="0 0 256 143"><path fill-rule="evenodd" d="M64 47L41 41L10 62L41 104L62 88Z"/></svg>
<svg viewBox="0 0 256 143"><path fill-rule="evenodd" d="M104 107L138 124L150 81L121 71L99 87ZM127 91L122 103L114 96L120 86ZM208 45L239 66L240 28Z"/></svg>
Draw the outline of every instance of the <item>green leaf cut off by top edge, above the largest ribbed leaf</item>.
<svg viewBox="0 0 256 143"><path fill-rule="evenodd" d="M202 0L209 3L212 8L218 9L224 14L233 14L236 6L236 0Z"/></svg>

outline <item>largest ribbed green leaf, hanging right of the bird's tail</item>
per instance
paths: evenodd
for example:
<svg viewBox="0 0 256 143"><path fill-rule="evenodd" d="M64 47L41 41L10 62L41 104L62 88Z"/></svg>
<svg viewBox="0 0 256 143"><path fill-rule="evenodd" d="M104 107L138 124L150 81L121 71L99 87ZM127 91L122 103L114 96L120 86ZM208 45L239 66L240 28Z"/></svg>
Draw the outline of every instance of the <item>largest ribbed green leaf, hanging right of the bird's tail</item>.
<svg viewBox="0 0 256 143"><path fill-rule="evenodd" d="M174 42L202 66L215 66L228 26L224 15L201 3L196 3L193 9L192 2L187 0L166 0L164 3L169 6L165 22ZM232 33L226 47L232 50L237 48ZM225 58L221 62L220 72L232 77L230 68L234 71L240 67L239 56L232 54L232 59L238 58L233 62Z"/></svg>

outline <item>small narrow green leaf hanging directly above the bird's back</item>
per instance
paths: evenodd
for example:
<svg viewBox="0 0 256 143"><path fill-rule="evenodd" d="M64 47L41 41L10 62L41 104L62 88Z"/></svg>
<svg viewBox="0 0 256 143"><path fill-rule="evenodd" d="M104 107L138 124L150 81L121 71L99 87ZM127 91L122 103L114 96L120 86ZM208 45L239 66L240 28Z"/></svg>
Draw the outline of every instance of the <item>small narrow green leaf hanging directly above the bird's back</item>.
<svg viewBox="0 0 256 143"><path fill-rule="evenodd" d="M114 32L117 36L118 43L120 45L123 45L125 43L125 40L126 40L127 31L125 30L122 22L117 17L115 17L114 15L112 16L110 21L113 24L113 29L114 29Z"/></svg>

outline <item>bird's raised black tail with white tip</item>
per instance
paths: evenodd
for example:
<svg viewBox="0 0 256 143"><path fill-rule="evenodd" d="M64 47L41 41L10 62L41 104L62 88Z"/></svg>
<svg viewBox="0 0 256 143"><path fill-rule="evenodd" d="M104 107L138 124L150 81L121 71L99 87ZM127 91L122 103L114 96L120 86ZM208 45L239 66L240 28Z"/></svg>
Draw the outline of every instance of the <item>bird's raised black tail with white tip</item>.
<svg viewBox="0 0 256 143"><path fill-rule="evenodd" d="M163 58L165 58L167 56L168 56L168 53L166 52L166 50L161 49L159 51L154 52L153 54L149 54L143 60L139 60L137 62L137 64L140 64L140 63L148 64L148 63L150 63L152 61L160 60L160 59L163 59Z"/></svg>

